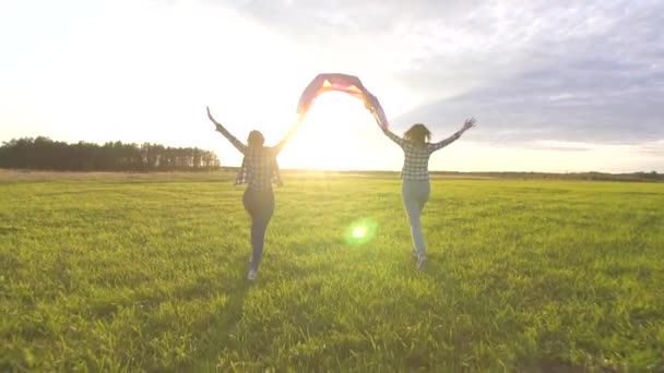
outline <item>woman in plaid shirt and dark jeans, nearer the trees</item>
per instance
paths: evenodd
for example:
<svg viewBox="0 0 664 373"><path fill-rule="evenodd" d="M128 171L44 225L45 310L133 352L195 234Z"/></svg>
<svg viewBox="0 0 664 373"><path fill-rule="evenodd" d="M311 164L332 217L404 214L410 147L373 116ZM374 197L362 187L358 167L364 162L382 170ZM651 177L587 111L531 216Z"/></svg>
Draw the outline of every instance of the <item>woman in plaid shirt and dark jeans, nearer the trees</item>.
<svg viewBox="0 0 664 373"><path fill-rule="evenodd" d="M290 129L286 137L276 146L269 147L263 146L265 137L263 137L262 133L259 131L249 132L249 137L247 139L248 145L245 145L232 135L220 122L214 120L210 113L210 108L208 108L208 118L214 123L216 131L221 132L228 139L230 144L245 155L235 184L240 185L247 183L242 203L245 209L251 217L252 246L251 264L249 266L247 279L253 281L258 276L258 267L261 262L261 256L263 255L265 231L268 230L272 214L274 214L274 192L272 191L272 184L282 184L276 156L284 145L286 145L288 140L290 140L293 134L295 134L299 122Z"/></svg>

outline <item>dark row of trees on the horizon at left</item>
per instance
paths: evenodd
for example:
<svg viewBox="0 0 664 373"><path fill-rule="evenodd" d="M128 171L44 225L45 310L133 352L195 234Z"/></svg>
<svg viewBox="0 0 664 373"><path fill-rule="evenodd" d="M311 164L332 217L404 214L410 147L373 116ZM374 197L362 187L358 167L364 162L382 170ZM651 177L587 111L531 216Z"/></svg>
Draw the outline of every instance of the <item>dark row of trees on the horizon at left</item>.
<svg viewBox="0 0 664 373"><path fill-rule="evenodd" d="M107 142L104 145L69 144L49 137L2 142L0 168L61 171L174 171L212 170L220 167L213 152L198 147L170 147Z"/></svg>

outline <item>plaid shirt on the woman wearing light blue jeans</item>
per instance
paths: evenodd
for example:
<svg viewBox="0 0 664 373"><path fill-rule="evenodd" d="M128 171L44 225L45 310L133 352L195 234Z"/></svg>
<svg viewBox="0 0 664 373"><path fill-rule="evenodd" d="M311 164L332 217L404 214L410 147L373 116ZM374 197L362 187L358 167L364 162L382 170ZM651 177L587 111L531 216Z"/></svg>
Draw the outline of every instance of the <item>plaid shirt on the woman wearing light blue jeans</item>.
<svg viewBox="0 0 664 373"><path fill-rule="evenodd" d="M404 153L403 168L401 170L401 178L404 180L429 180L429 157L438 149L441 149L459 137L461 133L456 132L450 137L439 143L426 143L424 145L416 144L398 136L389 130L383 131L384 134L390 137L396 145L401 146Z"/></svg>

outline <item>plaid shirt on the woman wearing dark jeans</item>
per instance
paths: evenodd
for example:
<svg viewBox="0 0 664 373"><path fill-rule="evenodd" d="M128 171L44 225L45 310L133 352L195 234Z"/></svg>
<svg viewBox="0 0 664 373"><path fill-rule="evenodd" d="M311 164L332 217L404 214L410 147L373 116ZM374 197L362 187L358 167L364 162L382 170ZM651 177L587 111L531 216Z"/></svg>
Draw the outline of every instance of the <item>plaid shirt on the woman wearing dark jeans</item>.
<svg viewBox="0 0 664 373"><path fill-rule="evenodd" d="M242 166L235 179L235 185L248 184L248 188L254 191L271 191L272 184L283 185L278 173L278 165L276 156L282 151L288 136L276 146L263 146L253 148L242 144L226 129L221 129L220 132L228 139L230 144L235 146L241 154L245 155Z"/></svg>

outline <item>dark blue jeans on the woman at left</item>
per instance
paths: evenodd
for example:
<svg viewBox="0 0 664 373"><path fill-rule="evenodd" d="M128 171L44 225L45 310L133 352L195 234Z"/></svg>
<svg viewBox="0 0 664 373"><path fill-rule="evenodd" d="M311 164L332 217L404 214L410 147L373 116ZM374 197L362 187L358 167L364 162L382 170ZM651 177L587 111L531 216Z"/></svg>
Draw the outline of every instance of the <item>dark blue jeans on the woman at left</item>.
<svg viewBox="0 0 664 373"><path fill-rule="evenodd" d="M251 217L251 269L258 270L263 256L265 232L274 214L274 192L247 189L242 196L245 209Z"/></svg>

